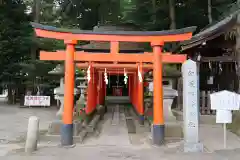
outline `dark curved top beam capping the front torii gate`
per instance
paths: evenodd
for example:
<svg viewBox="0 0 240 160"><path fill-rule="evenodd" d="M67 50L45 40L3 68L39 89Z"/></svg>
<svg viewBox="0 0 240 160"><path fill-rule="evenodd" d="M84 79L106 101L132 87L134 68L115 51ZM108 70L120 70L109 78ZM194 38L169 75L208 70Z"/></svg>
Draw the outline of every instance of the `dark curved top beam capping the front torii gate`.
<svg viewBox="0 0 240 160"><path fill-rule="evenodd" d="M163 31L103 31L96 32L91 30L77 30L77 29L64 29L57 28L54 26L43 25L39 23L31 22L32 27L36 29L42 29L53 32L60 33L71 33L71 34L92 34L92 35L125 35L125 36L164 36L164 35L177 35L189 32L194 32L196 30L195 26L186 27L175 30L163 30Z"/></svg>

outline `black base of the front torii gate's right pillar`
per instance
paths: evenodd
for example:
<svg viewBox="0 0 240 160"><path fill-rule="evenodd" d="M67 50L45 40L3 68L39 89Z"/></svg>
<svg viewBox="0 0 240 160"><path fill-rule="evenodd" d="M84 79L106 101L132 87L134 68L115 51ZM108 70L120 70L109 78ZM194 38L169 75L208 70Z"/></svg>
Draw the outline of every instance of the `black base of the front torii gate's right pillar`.
<svg viewBox="0 0 240 160"><path fill-rule="evenodd" d="M154 145L164 144L164 125L152 125L152 141Z"/></svg>

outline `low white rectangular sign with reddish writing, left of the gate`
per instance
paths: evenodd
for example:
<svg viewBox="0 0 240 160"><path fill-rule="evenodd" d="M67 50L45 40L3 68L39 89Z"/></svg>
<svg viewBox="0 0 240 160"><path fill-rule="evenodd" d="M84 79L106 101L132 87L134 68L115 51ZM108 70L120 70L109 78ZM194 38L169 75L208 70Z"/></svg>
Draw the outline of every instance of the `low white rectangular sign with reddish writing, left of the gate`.
<svg viewBox="0 0 240 160"><path fill-rule="evenodd" d="M24 106L50 106L50 96L25 96Z"/></svg>

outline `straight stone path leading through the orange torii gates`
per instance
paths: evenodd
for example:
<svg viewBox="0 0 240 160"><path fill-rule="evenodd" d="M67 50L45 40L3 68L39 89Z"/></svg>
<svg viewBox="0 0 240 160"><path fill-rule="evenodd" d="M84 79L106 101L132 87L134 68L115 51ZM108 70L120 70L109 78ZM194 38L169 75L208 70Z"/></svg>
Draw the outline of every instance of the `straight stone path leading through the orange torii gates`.
<svg viewBox="0 0 240 160"><path fill-rule="evenodd" d="M129 136L126 127L123 108L119 105L112 105L108 108L108 113L104 116L105 122L101 127L98 137L91 138L85 145L101 146L129 146Z"/></svg>

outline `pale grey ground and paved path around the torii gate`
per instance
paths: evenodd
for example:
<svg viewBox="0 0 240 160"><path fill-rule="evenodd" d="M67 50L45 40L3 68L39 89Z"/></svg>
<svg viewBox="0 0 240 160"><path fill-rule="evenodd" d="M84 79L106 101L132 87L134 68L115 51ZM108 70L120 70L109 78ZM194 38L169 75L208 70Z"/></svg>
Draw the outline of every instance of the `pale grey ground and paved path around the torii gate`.
<svg viewBox="0 0 240 160"><path fill-rule="evenodd" d="M124 115L121 112L111 114L102 126L101 135L88 139L75 148L59 148L59 142L40 142L38 151L31 156L23 152L24 141L19 137L25 135L28 118L36 115L40 118L40 129L46 130L49 122L55 119L55 108L18 108L18 106L0 105L0 159L4 160L65 160L65 159L140 159L140 160L239 160L240 140L228 132L228 149L222 150L223 131L219 125L201 124L200 140L210 153L182 153L182 142L174 142L161 147L141 143L132 145L131 136L127 135ZM119 117L118 117L119 116ZM113 120L113 121L112 121ZM117 123L116 120L119 120ZM145 134L139 135L139 139ZM147 135L147 134L146 134ZM138 139L138 138L137 138ZM145 137L145 139L147 139ZM4 156L4 157L3 157Z"/></svg>

